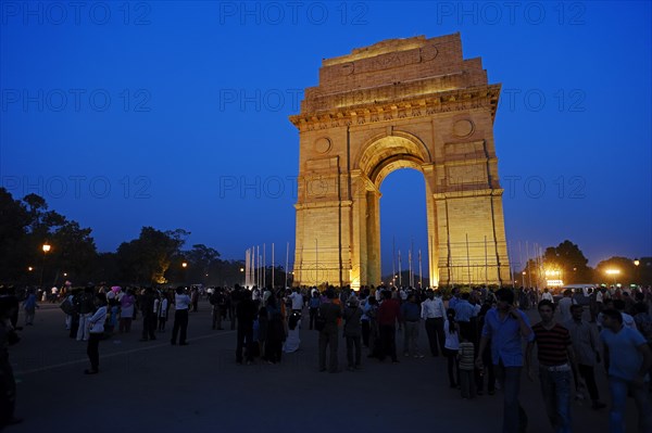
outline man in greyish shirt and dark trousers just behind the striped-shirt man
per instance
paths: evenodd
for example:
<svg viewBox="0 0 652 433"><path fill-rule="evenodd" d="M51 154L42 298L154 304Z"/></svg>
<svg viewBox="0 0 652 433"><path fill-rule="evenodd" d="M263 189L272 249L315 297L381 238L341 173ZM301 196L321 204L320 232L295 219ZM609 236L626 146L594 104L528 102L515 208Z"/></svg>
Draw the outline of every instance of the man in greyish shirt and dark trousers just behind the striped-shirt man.
<svg viewBox="0 0 652 433"><path fill-rule="evenodd" d="M591 397L592 408L602 409L606 405L600 402L598 385L595 384L595 374L593 367L600 362L599 340L595 328L581 319L584 308L581 305L570 306L573 319L565 326L570 332L570 342L577 359L577 372L575 374L575 386L579 387L579 378L586 383L589 396Z"/></svg>

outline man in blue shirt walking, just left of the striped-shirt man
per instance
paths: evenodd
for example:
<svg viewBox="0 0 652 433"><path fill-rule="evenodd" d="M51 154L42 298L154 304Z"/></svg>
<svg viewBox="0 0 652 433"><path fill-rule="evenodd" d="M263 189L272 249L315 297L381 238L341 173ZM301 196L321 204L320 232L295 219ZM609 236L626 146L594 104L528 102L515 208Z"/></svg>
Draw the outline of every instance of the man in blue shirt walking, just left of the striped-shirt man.
<svg viewBox="0 0 652 433"><path fill-rule="evenodd" d="M527 417L518 402L523 348L521 341L534 339L532 329L525 314L514 306L514 292L500 289L496 292L497 308L487 311L477 368L482 368L482 352L491 341L491 360L503 391L503 433L525 431Z"/></svg>

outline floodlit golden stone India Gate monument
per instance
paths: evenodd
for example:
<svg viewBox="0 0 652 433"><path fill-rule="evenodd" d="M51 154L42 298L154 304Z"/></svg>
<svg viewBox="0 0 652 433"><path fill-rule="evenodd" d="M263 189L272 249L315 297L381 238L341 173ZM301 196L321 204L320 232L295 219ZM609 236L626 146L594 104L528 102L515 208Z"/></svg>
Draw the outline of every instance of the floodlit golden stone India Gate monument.
<svg viewBox="0 0 652 433"><path fill-rule="evenodd" d="M500 85L460 34L327 59L300 113L294 284L380 283L380 183L419 170L430 285L511 281L493 141Z"/></svg>

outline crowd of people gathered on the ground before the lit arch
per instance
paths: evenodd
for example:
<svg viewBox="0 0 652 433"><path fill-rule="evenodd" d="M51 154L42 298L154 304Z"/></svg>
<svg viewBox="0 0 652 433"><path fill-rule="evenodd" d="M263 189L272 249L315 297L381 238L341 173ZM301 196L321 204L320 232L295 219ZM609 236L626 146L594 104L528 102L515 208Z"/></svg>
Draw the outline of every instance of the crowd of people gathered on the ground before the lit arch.
<svg viewBox="0 0 652 433"><path fill-rule="evenodd" d="M502 390L503 431L518 432L527 425L519 404L521 373L538 377L551 425L569 432L572 398L590 398L591 407L603 409L595 384L595 367L604 364L611 394L612 432L625 429L627 395L636 398L641 431L652 431L649 370L652 367L652 290L601 288L589 293L585 306L572 291L553 298L550 291L534 289L476 288L439 290L366 288L358 291L333 286L304 289L260 288L121 288L89 283L57 291L54 298L65 313L70 338L87 342L90 368L100 371L100 341L112 334L129 334L131 323L142 321L140 341L153 341L166 332L174 318L172 345L188 345L189 313L198 311L199 300L211 305L211 328L236 331L237 364L281 362L284 354L300 349L301 328L314 330L318 341L317 370L336 373L339 340L344 340L346 369L360 371L364 362L400 362L403 357L444 357L448 382L462 398L473 399ZM22 296L25 326L33 326L38 294L28 289ZM2 300L13 300L4 307ZM48 297L47 301L52 301ZM9 304L8 304L9 305ZM525 310L537 306L541 318L531 326ZM11 366L7 361L9 335L20 329L16 296L0 296L0 423L16 422L13 416ZM174 310L174 313L172 313ZM559 313L556 311L559 310ZM225 326L225 322L229 322ZM427 335L419 347L419 332ZM397 347L402 335L402 347ZM305 338L305 333L303 334ZM523 343L527 343L524 352ZM537 347L537 362L534 359ZM366 353L363 355L363 351ZM363 359L366 359L363 362Z"/></svg>

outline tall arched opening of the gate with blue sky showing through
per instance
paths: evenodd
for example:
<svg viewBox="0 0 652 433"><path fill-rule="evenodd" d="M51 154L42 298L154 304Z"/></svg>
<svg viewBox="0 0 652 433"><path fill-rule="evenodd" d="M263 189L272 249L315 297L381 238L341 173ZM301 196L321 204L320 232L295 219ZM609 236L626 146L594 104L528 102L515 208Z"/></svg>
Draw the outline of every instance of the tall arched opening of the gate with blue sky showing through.
<svg viewBox="0 0 652 433"><path fill-rule="evenodd" d="M428 286L426 181L416 167L401 167L380 183L380 275L387 285Z"/></svg>

